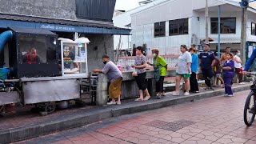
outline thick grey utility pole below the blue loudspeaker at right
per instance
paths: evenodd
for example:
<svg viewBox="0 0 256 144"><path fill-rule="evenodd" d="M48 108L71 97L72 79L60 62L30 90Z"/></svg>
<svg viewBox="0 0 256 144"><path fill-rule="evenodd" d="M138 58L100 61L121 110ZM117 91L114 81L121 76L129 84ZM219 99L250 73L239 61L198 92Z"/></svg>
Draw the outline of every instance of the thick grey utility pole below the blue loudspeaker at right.
<svg viewBox="0 0 256 144"><path fill-rule="evenodd" d="M242 8L241 56L242 56L243 66L246 63L246 25L247 25L247 7Z"/></svg>

